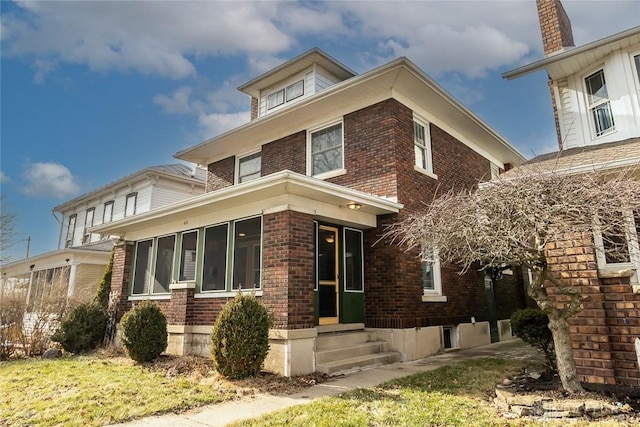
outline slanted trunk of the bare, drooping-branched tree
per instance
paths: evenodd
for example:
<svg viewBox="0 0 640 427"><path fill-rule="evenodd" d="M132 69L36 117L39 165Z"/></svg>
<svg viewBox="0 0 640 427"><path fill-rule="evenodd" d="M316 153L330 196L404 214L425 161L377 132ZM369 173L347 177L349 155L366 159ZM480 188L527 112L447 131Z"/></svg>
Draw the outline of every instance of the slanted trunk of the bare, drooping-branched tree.
<svg viewBox="0 0 640 427"><path fill-rule="evenodd" d="M571 347L571 336L569 335L569 322L567 319L547 313L549 316L549 329L553 335L553 344L556 351L556 363L558 365L558 375L562 381L562 387L569 393L583 391L576 364L573 359L573 348Z"/></svg>

